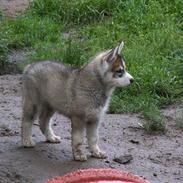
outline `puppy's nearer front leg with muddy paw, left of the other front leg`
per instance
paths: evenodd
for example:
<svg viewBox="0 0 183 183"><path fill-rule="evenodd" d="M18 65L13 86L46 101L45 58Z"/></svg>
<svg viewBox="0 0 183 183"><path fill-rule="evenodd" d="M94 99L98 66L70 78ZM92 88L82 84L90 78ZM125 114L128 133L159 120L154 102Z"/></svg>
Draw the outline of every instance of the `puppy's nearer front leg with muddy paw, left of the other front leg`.
<svg viewBox="0 0 183 183"><path fill-rule="evenodd" d="M84 120L72 118L72 151L76 161L86 161L87 157L82 151L83 134L85 129Z"/></svg>

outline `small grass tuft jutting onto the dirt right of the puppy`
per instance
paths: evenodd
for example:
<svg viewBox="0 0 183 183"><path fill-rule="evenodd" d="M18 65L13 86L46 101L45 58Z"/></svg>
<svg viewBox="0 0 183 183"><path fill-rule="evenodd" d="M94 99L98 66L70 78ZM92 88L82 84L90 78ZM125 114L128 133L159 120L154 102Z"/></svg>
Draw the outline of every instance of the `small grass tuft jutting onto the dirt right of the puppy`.
<svg viewBox="0 0 183 183"><path fill-rule="evenodd" d="M156 107L150 107L144 110L143 116L146 119L143 128L147 133L165 132L165 118Z"/></svg>

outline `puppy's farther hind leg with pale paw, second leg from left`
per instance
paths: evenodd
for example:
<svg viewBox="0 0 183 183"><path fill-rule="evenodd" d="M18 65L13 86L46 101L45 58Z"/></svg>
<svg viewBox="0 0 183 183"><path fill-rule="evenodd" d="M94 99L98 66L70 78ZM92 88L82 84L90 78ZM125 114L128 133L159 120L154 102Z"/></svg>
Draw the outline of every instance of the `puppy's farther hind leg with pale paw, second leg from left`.
<svg viewBox="0 0 183 183"><path fill-rule="evenodd" d="M51 117L53 114L54 111L48 104L44 104L41 106L39 115L40 129L46 137L47 142L60 143L60 137L54 134L51 127Z"/></svg>

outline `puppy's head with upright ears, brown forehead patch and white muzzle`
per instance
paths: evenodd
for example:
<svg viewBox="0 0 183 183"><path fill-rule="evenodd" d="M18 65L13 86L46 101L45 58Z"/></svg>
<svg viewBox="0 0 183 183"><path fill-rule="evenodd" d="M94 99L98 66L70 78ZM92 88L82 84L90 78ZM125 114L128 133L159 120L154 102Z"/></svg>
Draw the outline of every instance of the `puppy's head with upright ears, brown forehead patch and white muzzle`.
<svg viewBox="0 0 183 183"><path fill-rule="evenodd" d="M106 83L114 87L124 87L133 83L133 77L126 71L125 60L121 54L124 43L121 42L114 49L109 50L102 57L105 65L103 79Z"/></svg>

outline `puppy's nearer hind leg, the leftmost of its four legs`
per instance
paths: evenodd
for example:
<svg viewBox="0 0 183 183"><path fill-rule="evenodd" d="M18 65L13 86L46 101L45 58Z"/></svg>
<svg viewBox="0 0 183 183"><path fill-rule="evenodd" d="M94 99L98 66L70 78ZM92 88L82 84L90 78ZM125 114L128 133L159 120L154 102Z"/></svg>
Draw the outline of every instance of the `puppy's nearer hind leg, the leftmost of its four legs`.
<svg viewBox="0 0 183 183"><path fill-rule="evenodd" d="M25 97L23 99L22 116L22 144L24 147L34 147L35 142L32 139L32 126L37 114L37 107L32 101Z"/></svg>

